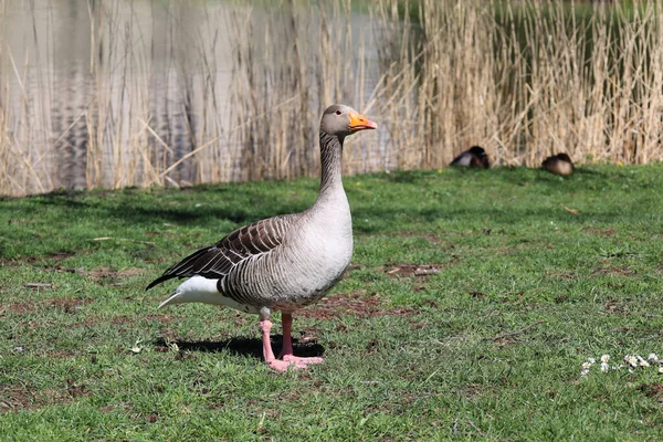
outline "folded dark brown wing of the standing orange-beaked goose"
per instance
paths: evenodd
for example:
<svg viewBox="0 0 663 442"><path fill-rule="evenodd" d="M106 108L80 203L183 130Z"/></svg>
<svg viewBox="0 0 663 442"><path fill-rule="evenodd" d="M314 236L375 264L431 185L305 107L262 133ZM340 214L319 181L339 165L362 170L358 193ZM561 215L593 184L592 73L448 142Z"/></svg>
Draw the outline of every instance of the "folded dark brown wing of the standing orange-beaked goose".
<svg viewBox="0 0 663 442"><path fill-rule="evenodd" d="M190 254L152 281L146 290L173 277L200 275L212 280L227 276L240 262L251 256L271 253L283 244L287 230L298 213L267 218L244 225L214 245Z"/></svg>

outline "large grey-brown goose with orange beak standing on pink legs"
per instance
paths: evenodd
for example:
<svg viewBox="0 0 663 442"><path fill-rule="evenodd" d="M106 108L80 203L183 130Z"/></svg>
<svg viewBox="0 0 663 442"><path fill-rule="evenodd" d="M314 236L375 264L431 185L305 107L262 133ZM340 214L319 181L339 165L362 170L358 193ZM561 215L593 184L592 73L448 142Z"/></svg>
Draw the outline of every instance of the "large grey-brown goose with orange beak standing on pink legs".
<svg viewBox="0 0 663 442"><path fill-rule="evenodd" d="M158 308L198 302L257 314L263 358L272 369L322 362L320 357L293 355L292 315L325 296L350 263L352 223L341 181L343 144L349 135L377 127L351 107L327 107L320 118L322 178L315 203L299 213L242 227L166 270L146 290L173 277L187 280ZM281 312L283 327L278 358L270 340L274 312Z"/></svg>

